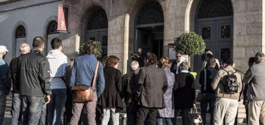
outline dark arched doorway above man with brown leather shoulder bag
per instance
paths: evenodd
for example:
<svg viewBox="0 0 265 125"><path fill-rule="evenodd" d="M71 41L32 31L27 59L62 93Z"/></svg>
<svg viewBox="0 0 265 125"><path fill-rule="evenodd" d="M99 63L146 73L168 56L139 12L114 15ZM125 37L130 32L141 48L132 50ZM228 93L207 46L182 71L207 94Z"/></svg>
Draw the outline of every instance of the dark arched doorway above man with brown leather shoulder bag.
<svg viewBox="0 0 265 125"><path fill-rule="evenodd" d="M94 9L87 20L85 30L85 41L100 41L102 44L103 55L108 54L108 17L102 8Z"/></svg>

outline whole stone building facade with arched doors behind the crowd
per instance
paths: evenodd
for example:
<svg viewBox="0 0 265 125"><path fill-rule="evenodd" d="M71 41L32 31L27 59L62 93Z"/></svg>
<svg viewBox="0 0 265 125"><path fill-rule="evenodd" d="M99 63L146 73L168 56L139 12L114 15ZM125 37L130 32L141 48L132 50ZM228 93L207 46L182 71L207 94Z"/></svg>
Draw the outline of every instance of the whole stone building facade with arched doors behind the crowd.
<svg viewBox="0 0 265 125"><path fill-rule="evenodd" d="M71 5L70 33L56 32L57 6ZM249 57L264 51L264 2L261 0L23 0L0 2L0 38L18 56L21 42L42 36L49 51L51 38L63 39L63 52L75 58L87 40L100 41L104 55L121 59L119 69L129 70L131 53L138 47L158 58L169 56L169 44L184 31L202 35L206 49L222 61L231 58L246 71ZM24 34L23 34L24 33ZM203 57L191 57L192 71L199 72Z"/></svg>

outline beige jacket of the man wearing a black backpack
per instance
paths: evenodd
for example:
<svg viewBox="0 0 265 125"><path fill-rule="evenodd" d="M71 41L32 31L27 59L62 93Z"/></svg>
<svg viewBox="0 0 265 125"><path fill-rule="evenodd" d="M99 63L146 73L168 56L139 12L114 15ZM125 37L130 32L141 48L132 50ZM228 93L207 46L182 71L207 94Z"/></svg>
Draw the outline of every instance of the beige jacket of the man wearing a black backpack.
<svg viewBox="0 0 265 125"><path fill-rule="evenodd" d="M235 70L232 68L232 66L227 66L226 68L224 68L226 71L233 71L235 72ZM227 74L227 72L225 70L220 69L218 71L218 73L216 74L216 77L213 81L213 83L211 83L211 87L216 91L216 97L224 97L224 98L230 98L230 99L239 99L240 97L240 92L242 90L242 79L241 79L241 75L237 72L234 73L234 75L237 78L237 83L239 83L239 91L237 93L234 94L228 94L225 93L223 90L223 85L221 84L221 80L222 78Z"/></svg>

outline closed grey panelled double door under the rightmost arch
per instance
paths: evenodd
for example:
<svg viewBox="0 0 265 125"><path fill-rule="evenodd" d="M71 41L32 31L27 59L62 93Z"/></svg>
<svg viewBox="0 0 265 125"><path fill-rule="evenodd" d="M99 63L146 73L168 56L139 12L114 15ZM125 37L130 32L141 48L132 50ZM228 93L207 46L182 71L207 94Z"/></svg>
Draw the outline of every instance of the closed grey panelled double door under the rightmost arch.
<svg viewBox="0 0 265 125"><path fill-rule="evenodd" d="M201 35L206 43L206 51L213 52L213 57L222 63L225 58L232 58L233 48L233 20L199 21L196 23L196 33ZM197 72L197 89L201 86L198 82L202 63L205 55L195 57L195 71Z"/></svg>

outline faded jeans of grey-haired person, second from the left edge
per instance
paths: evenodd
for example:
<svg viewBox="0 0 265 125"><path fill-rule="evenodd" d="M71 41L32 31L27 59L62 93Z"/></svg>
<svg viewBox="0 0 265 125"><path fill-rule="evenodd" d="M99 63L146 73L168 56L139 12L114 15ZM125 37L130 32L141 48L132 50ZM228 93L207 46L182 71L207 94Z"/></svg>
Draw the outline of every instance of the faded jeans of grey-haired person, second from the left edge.
<svg viewBox="0 0 265 125"><path fill-rule="evenodd" d="M19 93L12 93L12 118L10 124L17 125L18 118L20 115L20 107L21 107L21 101L20 101L20 94Z"/></svg>

